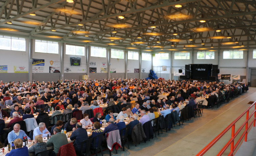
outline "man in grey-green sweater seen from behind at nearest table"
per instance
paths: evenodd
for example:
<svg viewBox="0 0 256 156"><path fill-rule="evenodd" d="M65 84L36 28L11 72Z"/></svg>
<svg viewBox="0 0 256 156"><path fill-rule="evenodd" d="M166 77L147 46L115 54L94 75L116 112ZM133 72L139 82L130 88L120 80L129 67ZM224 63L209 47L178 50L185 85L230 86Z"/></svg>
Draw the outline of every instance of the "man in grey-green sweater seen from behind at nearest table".
<svg viewBox="0 0 256 156"><path fill-rule="evenodd" d="M47 147L54 148L54 153L57 155L61 146L68 144L68 138L65 133L61 133L60 127L53 129L53 134L47 141Z"/></svg>

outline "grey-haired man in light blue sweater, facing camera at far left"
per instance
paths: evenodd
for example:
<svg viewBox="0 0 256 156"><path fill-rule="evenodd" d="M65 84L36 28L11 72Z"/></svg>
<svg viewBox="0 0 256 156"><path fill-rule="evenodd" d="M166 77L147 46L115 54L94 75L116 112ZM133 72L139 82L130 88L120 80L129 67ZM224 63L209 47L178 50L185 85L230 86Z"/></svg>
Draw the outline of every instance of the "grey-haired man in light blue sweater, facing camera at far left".
<svg viewBox="0 0 256 156"><path fill-rule="evenodd" d="M23 139L24 136L27 136L27 134L20 129L20 124L15 124L13 130L8 134L8 143L18 138ZM27 139L28 142L31 142L30 137L27 136Z"/></svg>

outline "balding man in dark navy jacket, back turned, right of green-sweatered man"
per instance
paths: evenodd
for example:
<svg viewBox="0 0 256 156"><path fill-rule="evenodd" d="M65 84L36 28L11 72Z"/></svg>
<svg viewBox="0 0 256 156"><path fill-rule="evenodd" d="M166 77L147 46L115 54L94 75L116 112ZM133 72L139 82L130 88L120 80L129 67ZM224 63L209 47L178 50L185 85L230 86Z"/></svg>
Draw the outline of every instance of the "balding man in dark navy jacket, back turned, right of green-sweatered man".
<svg viewBox="0 0 256 156"><path fill-rule="evenodd" d="M75 125L76 129L73 129L73 132L70 136L70 140L74 142L75 151L80 152L81 151L81 144L84 140L88 139L87 131L85 128L82 128L82 123L78 122ZM84 144L83 152L86 152L86 144Z"/></svg>

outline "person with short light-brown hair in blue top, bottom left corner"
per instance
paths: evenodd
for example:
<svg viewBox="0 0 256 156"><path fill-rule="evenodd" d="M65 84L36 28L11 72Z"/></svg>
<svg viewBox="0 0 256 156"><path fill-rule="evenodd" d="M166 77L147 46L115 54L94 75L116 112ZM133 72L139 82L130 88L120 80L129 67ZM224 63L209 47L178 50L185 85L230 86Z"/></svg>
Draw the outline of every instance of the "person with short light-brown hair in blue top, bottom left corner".
<svg viewBox="0 0 256 156"><path fill-rule="evenodd" d="M8 156L28 156L27 147L22 147L22 139L18 138L14 140L15 150L7 151L6 155Z"/></svg>

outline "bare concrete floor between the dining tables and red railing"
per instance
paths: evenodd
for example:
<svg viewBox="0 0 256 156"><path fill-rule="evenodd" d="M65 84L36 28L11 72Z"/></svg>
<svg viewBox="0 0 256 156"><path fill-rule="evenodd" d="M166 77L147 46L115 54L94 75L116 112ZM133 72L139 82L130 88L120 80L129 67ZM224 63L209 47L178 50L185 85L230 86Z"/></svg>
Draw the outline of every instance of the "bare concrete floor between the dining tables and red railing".
<svg viewBox="0 0 256 156"><path fill-rule="evenodd" d="M127 149L127 145L125 145L125 151L118 149L118 154L112 152L112 155L194 156L245 111L250 106L247 103L255 101L255 97L256 88L250 87L247 93L232 99L229 103L222 104L219 108L214 110L211 108L204 109L204 113L200 118L192 118L192 120L185 122L184 125L173 127L171 131L163 131L163 134L160 133L154 139L146 143L142 142L137 147L130 142L130 149ZM242 122L236 124L236 130L241 124ZM230 131L205 155L216 155L230 139ZM227 149L224 155L227 155L229 150L230 148ZM109 151L103 151L103 155L109 155Z"/></svg>

